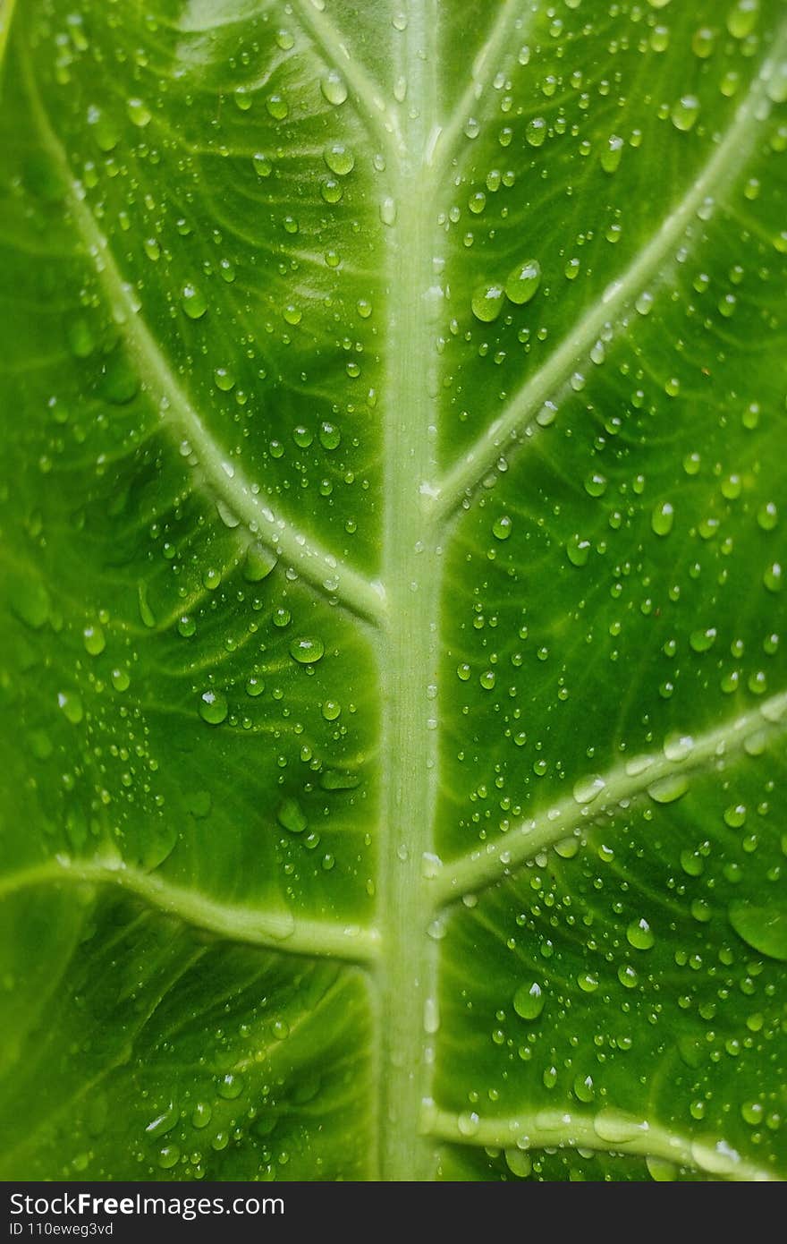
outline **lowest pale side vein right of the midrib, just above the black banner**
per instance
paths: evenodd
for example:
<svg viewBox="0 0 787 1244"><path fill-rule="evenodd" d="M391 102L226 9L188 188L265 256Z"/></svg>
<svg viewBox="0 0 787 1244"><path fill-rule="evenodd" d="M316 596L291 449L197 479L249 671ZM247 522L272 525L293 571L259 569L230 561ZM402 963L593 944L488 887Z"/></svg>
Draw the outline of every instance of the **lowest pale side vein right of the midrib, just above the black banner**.
<svg viewBox="0 0 787 1244"><path fill-rule="evenodd" d="M689 1167L721 1179L781 1182L780 1176L747 1162L726 1141L680 1136L648 1120L612 1110L596 1115L543 1110L516 1118L482 1118L471 1112L450 1115L426 1103L421 1126L429 1136L454 1144L512 1149L520 1157L528 1149L592 1149Z"/></svg>

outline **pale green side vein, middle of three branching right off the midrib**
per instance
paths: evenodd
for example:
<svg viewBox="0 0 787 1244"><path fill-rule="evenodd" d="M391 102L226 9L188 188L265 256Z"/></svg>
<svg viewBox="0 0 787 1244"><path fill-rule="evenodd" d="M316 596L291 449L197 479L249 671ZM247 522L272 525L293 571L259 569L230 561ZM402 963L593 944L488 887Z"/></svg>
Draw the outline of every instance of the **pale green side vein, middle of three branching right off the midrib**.
<svg viewBox="0 0 787 1244"><path fill-rule="evenodd" d="M787 692L773 695L758 709L726 722L695 739L670 740L666 754L637 756L605 774L588 775L574 794L506 833L446 863L435 876L431 894L436 906L492 886L532 860L540 851L582 832L599 816L625 810L632 800L650 792L656 802L680 797L683 782L711 765L724 768L745 748L765 745L787 730ZM680 785L676 785L680 784Z"/></svg>

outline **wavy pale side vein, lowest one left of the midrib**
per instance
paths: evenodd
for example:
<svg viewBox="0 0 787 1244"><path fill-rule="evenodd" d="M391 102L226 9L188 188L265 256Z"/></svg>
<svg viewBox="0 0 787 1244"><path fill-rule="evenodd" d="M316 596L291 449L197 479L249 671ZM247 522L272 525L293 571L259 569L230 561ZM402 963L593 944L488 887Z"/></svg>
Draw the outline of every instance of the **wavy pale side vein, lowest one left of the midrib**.
<svg viewBox="0 0 787 1244"><path fill-rule="evenodd" d="M342 926L329 921L303 919L293 917L283 908L266 912L240 904L219 903L194 889L128 867L117 858L51 860L1 878L0 898L35 886L68 883L116 886L167 916L174 916L185 924L231 942L267 947L288 954L343 959L349 963L369 963L378 955L379 937L374 929L363 929L357 924Z"/></svg>

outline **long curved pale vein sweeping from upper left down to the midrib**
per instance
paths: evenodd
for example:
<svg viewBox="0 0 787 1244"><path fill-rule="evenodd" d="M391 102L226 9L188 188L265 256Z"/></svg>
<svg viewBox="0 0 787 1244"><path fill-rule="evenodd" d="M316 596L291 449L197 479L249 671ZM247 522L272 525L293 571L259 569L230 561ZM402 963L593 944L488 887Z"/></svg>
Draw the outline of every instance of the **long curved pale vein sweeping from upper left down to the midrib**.
<svg viewBox="0 0 787 1244"><path fill-rule="evenodd" d="M240 465L231 460L203 423L185 389L169 366L159 345L140 315L132 286L123 280L109 243L99 230L83 193L75 182L66 152L53 133L26 67L32 109L52 158L62 169L68 185L68 209L93 260L116 321L122 326L129 350L136 356L149 392L157 394L162 418L185 438L182 449L194 457L209 490L223 506L242 522L255 539L272 549L288 566L332 602L358 617L379 622L385 615L385 593L380 583L369 581L346 566L317 541L277 514L270 499L251 483Z"/></svg>

